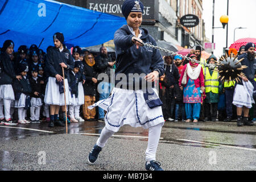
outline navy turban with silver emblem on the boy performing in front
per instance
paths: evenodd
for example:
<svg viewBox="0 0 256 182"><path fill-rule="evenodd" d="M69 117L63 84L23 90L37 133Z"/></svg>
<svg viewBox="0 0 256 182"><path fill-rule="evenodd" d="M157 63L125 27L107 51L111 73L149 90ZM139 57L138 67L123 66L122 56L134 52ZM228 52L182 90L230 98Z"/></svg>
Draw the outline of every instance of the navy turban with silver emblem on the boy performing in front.
<svg viewBox="0 0 256 182"><path fill-rule="evenodd" d="M122 5L122 14L127 19L130 12L141 12L143 13L143 4L139 0L125 0Z"/></svg>

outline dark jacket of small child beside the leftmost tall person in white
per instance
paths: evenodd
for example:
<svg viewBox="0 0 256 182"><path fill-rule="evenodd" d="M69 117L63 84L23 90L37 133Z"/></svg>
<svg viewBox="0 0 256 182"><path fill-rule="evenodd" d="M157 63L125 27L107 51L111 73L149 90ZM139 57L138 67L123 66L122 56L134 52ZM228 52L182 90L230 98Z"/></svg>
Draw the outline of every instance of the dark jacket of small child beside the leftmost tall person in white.
<svg viewBox="0 0 256 182"><path fill-rule="evenodd" d="M15 100L19 100L20 94L24 93L26 95L30 95L32 93L32 89L30 86L30 82L28 77L22 77L22 80L14 80L13 82L13 90L15 95Z"/></svg>

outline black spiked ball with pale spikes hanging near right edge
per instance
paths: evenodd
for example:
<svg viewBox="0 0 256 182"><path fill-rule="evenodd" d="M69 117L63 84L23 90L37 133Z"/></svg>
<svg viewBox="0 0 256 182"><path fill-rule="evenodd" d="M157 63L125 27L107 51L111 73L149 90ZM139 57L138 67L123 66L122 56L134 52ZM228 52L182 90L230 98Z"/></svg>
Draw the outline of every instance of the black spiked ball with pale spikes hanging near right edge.
<svg viewBox="0 0 256 182"><path fill-rule="evenodd" d="M241 64L242 60L243 58L238 60L237 56L233 57L233 53L230 53L229 57L228 55L221 56L220 59L216 61L217 67L214 71L217 71L220 74L218 78L221 79L222 83L225 80L236 80L238 82L241 81L240 78L246 77L245 74L242 73L242 70L247 68L247 66Z"/></svg>

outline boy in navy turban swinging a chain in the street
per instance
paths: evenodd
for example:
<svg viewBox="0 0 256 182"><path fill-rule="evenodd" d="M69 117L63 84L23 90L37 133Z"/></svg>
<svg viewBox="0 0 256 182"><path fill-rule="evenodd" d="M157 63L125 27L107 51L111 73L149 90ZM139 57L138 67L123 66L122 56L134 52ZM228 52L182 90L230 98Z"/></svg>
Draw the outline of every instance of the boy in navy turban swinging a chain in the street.
<svg viewBox="0 0 256 182"><path fill-rule="evenodd" d="M123 125L148 129L148 146L146 150L146 170L162 171L160 163L155 161L161 129L164 124L162 102L159 100L154 82L164 73L164 61L158 49L142 46L146 42L156 46L155 40L142 23L143 4L141 1L126 0L122 13L127 24L114 34L115 52L117 54L115 80L112 95L89 106L100 106L107 111L105 127L92 151L88 155L90 164L95 163L98 154L108 139ZM138 40L139 42L137 42ZM134 76L134 75L139 76ZM130 75L133 75L130 78ZM129 78L127 80L127 78ZM146 83L147 88L143 85ZM148 88L151 85L151 89ZM149 91L152 91L149 94Z"/></svg>

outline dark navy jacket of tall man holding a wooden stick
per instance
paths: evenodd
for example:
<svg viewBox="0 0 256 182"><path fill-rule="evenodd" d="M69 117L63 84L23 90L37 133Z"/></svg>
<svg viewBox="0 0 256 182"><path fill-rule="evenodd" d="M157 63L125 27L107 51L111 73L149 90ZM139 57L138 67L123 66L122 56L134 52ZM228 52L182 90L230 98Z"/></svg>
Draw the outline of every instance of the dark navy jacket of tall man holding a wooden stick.
<svg viewBox="0 0 256 182"><path fill-rule="evenodd" d="M68 78L68 71L72 71L74 68L74 61L71 53L67 48L64 48L62 52L58 48L49 47L47 49L46 56L46 76L55 77L57 74L63 76L62 68L60 63L65 63L68 68L64 68L65 78Z"/></svg>

